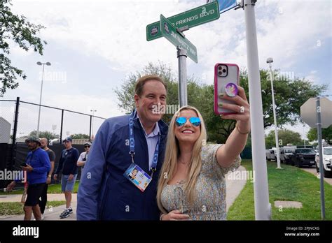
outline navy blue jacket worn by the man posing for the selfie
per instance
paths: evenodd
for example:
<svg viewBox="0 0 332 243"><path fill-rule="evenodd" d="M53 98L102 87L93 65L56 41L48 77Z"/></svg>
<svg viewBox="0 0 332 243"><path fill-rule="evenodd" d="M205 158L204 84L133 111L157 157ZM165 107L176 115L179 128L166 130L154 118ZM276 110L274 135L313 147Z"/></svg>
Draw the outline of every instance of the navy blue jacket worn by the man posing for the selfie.
<svg viewBox="0 0 332 243"><path fill-rule="evenodd" d="M167 125L158 121L160 150L157 170L144 192L123 173L132 163L129 115L106 119L93 141L78 188L78 220L158 220L157 181L165 155ZM134 117L134 163L148 172L148 145L137 116Z"/></svg>

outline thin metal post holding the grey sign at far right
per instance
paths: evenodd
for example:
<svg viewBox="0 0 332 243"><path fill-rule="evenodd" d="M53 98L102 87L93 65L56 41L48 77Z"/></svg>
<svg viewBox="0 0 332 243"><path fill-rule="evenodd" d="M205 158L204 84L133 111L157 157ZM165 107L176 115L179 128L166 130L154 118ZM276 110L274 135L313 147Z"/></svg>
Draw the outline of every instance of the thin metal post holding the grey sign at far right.
<svg viewBox="0 0 332 243"><path fill-rule="evenodd" d="M318 151L319 151L319 177L321 187L321 219L325 219L325 198L324 198L324 165L323 151L321 147L321 101L316 98L316 117L317 117L317 135L318 135Z"/></svg>

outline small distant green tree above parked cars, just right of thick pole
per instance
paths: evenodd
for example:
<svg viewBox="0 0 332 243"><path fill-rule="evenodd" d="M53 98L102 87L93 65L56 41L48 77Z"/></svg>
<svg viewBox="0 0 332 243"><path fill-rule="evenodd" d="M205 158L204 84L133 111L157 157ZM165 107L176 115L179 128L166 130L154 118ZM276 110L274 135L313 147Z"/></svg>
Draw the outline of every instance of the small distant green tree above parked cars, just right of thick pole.
<svg viewBox="0 0 332 243"><path fill-rule="evenodd" d="M286 146L288 143L292 145L300 145L303 140L301 138L300 133L293 132L288 129L280 129L278 130L278 138L279 138L279 145ZM271 148L275 147L275 130L271 130L267 136L265 136L265 147Z"/></svg>

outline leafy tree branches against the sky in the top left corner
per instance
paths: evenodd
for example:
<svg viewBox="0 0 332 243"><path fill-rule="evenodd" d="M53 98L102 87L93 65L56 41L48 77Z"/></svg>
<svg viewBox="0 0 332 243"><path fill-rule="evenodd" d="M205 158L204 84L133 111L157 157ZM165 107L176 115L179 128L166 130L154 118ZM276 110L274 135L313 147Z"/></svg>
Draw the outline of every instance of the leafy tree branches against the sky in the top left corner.
<svg viewBox="0 0 332 243"><path fill-rule="evenodd" d="M46 45L45 40L41 40L36 36L36 33L45 28L41 24L32 24L27 21L23 15L14 15L8 0L0 0L0 80L2 87L0 89L0 96L2 96L6 89L15 89L18 87L16 80L21 77L23 80L27 75L23 73L20 68L11 65L9 59L10 48L9 43L13 41L23 50L28 51L29 47L33 47L35 52L43 55L43 45Z"/></svg>

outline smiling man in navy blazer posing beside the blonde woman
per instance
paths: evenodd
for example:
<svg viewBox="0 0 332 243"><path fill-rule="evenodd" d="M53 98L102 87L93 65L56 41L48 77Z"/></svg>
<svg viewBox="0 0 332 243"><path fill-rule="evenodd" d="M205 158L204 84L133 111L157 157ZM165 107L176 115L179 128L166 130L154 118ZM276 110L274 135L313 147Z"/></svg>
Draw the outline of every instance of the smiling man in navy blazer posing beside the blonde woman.
<svg viewBox="0 0 332 243"><path fill-rule="evenodd" d="M78 188L78 220L158 220L157 181L165 154L166 84L156 75L137 80L136 109L131 115L106 119L90 149ZM132 165L129 120L133 121L134 163L153 174L145 191L124 176ZM158 150L155 150L156 148ZM156 151L156 152L155 152ZM155 153L158 160L153 159ZM153 161L157 161L153 172Z"/></svg>

